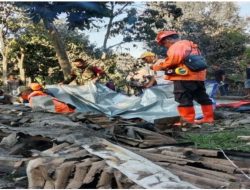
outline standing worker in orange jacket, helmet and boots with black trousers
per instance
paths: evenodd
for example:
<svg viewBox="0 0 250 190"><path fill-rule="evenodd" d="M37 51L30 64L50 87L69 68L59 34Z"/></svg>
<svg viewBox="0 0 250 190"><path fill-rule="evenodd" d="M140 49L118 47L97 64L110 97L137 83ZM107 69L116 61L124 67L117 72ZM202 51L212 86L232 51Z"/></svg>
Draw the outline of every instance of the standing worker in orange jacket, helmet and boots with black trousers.
<svg viewBox="0 0 250 190"><path fill-rule="evenodd" d="M152 66L154 71L170 70L178 67L187 71L186 75L166 75L166 80L174 82L175 101L179 103L180 116L189 123L213 123L214 113L212 101L206 93L205 79L206 70L191 71L185 65L185 58L189 55L200 55L197 44L188 40L181 40L176 31L161 31L156 41L159 45L168 49L166 59ZM202 108L203 119L195 121L193 100L197 101Z"/></svg>

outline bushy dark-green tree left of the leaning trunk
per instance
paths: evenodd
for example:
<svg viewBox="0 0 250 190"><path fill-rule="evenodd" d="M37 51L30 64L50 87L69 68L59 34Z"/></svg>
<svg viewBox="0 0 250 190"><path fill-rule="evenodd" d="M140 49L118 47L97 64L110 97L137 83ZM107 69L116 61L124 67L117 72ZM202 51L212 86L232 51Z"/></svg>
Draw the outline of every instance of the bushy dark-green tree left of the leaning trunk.
<svg viewBox="0 0 250 190"><path fill-rule="evenodd" d="M47 76L49 68L59 67L53 44L42 24L27 24L22 34L11 42L10 49L12 62L18 63L19 69L22 65L25 77L31 77L32 81L37 76Z"/></svg>

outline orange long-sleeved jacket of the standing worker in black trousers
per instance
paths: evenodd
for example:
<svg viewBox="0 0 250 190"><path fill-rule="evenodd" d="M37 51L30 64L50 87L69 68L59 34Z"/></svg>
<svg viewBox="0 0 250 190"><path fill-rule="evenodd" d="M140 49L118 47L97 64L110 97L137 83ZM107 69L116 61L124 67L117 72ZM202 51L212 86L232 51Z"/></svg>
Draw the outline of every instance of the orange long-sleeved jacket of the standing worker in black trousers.
<svg viewBox="0 0 250 190"><path fill-rule="evenodd" d="M153 65L154 71L166 70L176 67L183 67L188 71L187 75L166 75L166 80L185 80L185 81L205 81L206 70L193 72L185 64L184 59L189 54L198 55L199 49L196 44L188 40L180 40L174 43L167 52L167 58L160 64Z"/></svg>

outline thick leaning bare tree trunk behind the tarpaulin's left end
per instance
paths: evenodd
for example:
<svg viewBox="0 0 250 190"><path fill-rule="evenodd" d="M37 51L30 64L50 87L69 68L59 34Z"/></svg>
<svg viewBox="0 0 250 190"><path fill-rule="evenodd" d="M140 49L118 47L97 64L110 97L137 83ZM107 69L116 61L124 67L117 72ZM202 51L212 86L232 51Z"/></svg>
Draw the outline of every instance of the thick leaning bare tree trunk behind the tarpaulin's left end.
<svg viewBox="0 0 250 190"><path fill-rule="evenodd" d="M71 65L69 63L69 59L66 53L66 49L64 46L64 43L60 37L60 34L58 33L55 25L52 22L49 22L47 20L43 20L45 27L48 29L49 36L52 40L52 43L56 50L56 56L58 59L58 62L61 66L61 69L64 74L64 79L67 79L71 72Z"/></svg>

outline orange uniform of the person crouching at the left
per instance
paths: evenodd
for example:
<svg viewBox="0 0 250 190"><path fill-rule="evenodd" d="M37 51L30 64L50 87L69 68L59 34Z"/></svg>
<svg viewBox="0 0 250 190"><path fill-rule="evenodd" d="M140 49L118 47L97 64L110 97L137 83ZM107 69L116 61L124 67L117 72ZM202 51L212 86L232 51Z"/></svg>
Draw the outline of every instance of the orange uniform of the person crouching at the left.
<svg viewBox="0 0 250 190"><path fill-rule="evenodd" d="M32 92L29 96L28 96L28 100L30 103L30 106L32 107L33 105L33 101L32 98L33 97L37 97L37 96L44 96L44 97L49 97L49 95L47 95L46 93L42 92L42 91L34 91ZM70 108L66 103L59 101L58 99L51 97L51 100L54 104L54 109L51 111L54 111L56 113L71 113L74 112L75 110Z"/></svg>

